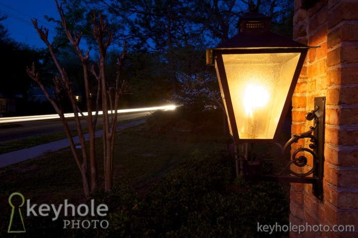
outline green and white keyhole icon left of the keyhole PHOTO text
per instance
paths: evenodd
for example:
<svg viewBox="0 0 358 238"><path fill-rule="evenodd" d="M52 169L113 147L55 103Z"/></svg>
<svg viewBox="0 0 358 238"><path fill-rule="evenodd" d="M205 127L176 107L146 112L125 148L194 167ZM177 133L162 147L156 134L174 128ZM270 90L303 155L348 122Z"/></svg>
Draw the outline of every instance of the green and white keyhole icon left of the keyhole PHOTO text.
<svg viewBox="0 0 358 238"><path fill-rule="evenodd" d="M12 198L14 196L19 196L21 198L21 201L22 201L21 204L19 204L19 205L15 204L14 205L12 203L11 200L12 200ZM20 194L20 193L12 193L10 195L10 197L9 197L9 204L12 207L12 209L11 209L11 217L10 217L8 233L26 232L25 225L24 225L24 220L23 220L23 215L21 215L21 209L20 209L20 207L22 207L25 204L24 196L22 194ZM13 222L15 222L15 223L13 223Z"/></svg>

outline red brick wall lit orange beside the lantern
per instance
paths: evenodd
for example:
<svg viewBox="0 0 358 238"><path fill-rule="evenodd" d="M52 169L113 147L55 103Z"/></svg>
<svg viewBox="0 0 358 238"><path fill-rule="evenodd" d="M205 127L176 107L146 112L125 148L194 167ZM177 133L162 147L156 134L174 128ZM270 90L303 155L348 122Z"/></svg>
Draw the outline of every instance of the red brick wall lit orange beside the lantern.
<svg viewBox="0 0 358 238"><path fill-rule="evenodd" d="M354 225L355 232L291 232L290 237L358 237L358 1L295 0L293 37L320 47L308 51L295 89L292 133L308 130L311 122L304 115L315 97L326 97L326 125L323 201L312 195L312 185L292 184L290 222Z"/></svg>

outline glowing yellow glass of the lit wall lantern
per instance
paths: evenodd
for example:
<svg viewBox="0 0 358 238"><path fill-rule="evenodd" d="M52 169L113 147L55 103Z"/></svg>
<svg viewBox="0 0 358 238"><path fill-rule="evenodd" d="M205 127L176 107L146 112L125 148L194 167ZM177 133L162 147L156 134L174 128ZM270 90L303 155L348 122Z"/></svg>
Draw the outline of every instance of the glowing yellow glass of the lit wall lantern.
<svg viewBox="0 0 358 238"><path fill-rule="evenodd" d="M300 54L222 55L240 139L274 137Z"/></svg>

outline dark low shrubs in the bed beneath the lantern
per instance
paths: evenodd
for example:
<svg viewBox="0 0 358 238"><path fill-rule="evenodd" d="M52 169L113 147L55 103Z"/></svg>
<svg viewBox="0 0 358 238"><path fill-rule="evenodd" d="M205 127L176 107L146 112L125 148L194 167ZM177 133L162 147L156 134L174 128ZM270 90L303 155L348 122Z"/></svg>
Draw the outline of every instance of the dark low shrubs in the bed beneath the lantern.
<svg viewBox="0 0 358 238"><path fill-rule="evenodd" d="M277 183L236 184L232 161L220 155L188 160L155 185L146 199L154 236L265 237L260 224L288 224L288 201ZM281 237L281 233L272 234Z"/></svg>

